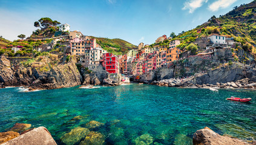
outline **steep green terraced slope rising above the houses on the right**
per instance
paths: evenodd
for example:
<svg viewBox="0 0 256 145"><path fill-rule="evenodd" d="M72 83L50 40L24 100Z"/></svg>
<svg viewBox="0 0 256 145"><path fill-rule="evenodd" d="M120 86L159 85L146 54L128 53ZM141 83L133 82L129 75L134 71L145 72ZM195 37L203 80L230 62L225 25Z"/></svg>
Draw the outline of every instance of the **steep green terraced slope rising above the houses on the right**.
<svg viewBox="0 0 256 145"><path fill-rule="evenodd" d="M256 54L256 1L249 4L234 7L234 10L216 18L212 16L208 22L199 25L193 30L179 34L174 39L181 40L180 48L185 50L189 43L200 37L217 33L226 37L234 37L236 42L241 42L242 48L252 54ZM197 33L197 30L202 30Z"/></svg>

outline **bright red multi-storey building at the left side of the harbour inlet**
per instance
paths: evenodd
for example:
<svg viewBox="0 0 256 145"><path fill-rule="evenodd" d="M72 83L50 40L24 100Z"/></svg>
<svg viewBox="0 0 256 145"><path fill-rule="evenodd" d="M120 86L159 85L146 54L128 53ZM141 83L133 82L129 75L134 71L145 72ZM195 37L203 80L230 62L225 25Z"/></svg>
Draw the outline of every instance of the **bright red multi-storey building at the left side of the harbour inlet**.
<svg viewBox="0 0 256 145"><path fill-rule="evenodd" d="M112 53L103 54L103 68L110 74L119 73L119 59L117 56L114 56Z"/></svg>

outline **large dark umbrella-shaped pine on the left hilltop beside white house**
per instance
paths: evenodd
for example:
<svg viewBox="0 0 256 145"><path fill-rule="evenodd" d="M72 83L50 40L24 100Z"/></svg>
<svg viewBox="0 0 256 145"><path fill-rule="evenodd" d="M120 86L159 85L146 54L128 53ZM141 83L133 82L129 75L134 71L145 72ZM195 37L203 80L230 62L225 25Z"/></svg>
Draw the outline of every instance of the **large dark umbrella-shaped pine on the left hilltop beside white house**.
<svg viewBox="0 0 256 145"><path fill-rule="evenodd" d="M38 21L34 22L34 27L40 27L41 29L48 28L50 26L56 26L61 24L58 21L53 21L50 18L41 18Z"/></svg>

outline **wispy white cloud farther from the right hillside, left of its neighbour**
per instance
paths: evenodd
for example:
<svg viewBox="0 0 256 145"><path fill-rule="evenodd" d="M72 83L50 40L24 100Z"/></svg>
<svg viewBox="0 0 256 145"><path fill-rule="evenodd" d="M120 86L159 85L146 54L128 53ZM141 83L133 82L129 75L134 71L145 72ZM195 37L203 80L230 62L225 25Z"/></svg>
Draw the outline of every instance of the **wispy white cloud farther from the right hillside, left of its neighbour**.
<svg viewBox="0 0 256 145"><path fill-rule="evenodd" d="M208 0L190 0L190 1L186 1L184 3L184 7L182 8L182 10L189 10L189 13L193 13L194 10L196 10L197 8L202 7L203 3L208 2Z"/></svg>

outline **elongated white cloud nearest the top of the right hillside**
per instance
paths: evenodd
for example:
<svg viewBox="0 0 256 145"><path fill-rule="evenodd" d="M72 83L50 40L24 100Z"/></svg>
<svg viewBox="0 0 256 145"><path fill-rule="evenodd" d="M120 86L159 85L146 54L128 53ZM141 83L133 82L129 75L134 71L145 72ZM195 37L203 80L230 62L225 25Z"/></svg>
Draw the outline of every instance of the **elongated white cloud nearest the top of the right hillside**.
<svg viewBox="0 0 256 145"><path fill-rule="evenodd" d="M234 4L237 0L218 0L209 5L209 10L217 11L219 8L226 8Z"/></svg>

